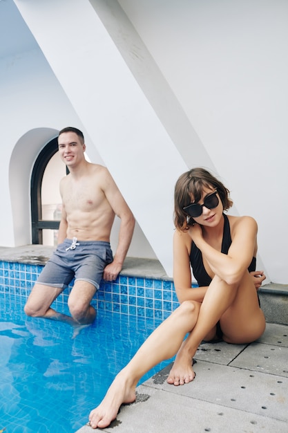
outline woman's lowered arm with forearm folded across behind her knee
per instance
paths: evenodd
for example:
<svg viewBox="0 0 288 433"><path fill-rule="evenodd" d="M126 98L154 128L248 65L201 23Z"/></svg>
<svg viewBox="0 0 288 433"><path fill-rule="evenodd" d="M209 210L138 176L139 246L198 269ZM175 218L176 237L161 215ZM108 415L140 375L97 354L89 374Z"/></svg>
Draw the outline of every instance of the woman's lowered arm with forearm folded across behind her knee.
<svg viewBox="0 0 288 433"><path fill-rule="evenodd" d="M202 302L207 287L191 288L191 267L189 254L191 237L189 234L175 230L173 237L173 280L178 301Z"/></svg>

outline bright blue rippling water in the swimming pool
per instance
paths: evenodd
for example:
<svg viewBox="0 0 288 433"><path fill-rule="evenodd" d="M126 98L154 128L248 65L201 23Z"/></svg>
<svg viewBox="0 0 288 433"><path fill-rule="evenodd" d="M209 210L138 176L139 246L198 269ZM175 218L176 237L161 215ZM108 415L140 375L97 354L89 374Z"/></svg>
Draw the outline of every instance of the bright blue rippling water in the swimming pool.
<svg viewBox="0 0 288 433"><path fill-rule="evenodd" d="M160 322L99 311L73 340L67 324L26 317L24 302L0 294L0 430L74 433ZM60 303L57 310L67 313Z"/></svg>

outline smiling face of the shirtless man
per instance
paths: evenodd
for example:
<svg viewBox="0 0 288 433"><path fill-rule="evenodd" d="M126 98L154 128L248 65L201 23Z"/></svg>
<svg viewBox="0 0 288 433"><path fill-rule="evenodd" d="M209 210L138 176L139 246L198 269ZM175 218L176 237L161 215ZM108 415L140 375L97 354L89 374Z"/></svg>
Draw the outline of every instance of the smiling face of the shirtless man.
<svg viewBox="0 0 288 433"><path fill-rule="evenodd" d="M84 160L86 146L81 142L75 132L64 132L58 137L58 149L61 160L68 166L73 167Z"/></svg>

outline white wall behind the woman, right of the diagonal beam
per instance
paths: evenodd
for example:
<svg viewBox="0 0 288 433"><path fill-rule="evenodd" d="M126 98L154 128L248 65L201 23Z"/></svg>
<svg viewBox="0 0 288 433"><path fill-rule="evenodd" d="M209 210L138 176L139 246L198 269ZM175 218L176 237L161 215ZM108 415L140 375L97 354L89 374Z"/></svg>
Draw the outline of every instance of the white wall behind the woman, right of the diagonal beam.
<svg viewBox="0 0 288 433"><path fill-rule="evenodd" d="M269 279L287 284L287 1L119 3L231 189L233 212L258 221Z"/></svg>

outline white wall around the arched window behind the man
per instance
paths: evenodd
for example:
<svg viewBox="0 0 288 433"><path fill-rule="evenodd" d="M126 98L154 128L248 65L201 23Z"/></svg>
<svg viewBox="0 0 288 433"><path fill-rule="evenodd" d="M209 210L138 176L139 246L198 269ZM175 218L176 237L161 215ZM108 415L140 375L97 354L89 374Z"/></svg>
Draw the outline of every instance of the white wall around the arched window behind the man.
<svg viewBox="0 0 288 433"><path fill-rule="evenodd" d="M84 131L90 160L103 164L84 125L46 62L41 50L0 59L1 246L31 243L30 176L41 149L59 129L73 125ZM117 245L115 222L111 246ZM155 258L139 225L130 255Z"/></svg>

